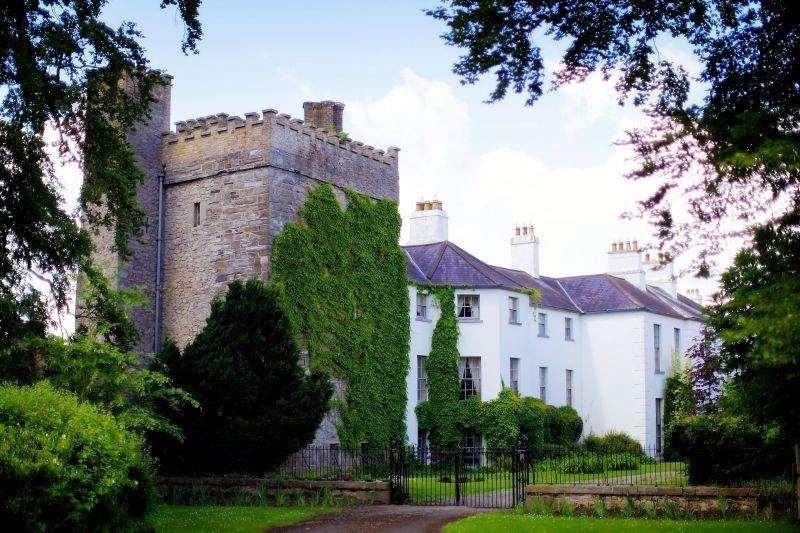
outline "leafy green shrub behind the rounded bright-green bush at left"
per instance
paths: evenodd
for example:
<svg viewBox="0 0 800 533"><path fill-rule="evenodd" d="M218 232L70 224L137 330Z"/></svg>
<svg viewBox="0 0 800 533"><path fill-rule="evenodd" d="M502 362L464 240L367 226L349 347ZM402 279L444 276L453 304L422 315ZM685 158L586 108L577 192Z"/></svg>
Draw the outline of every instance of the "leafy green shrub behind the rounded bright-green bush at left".
<svg viewBox="0 0 800 533"><path fill-rule="evenodd" d="M0 368L5 379L17 384L46 379L145 436L163 433L180 439L180 428L160 412L196 406L166 375L143 365L140 356L82 336L69 341L29 337L0 350Z"/></svg>

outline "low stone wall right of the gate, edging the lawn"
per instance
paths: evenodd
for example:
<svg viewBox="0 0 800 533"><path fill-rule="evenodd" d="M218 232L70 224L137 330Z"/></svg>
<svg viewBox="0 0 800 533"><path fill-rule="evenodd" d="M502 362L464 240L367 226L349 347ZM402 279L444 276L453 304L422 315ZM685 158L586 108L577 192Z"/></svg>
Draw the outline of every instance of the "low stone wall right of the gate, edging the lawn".
<svg viewBox="0 0 800 533"><path fill-rule="evenodd" d="M600 516L775 518L787 508L757 489L652 485L528 485L525 510Z"/></svg>

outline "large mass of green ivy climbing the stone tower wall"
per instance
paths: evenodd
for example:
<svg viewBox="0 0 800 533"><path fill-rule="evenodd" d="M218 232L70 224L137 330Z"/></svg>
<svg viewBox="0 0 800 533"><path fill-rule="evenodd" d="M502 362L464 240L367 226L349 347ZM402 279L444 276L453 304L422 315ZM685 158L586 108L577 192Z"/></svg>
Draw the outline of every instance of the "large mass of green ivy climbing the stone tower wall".
<svg viewBox="0 0 800 533"><path fill-rule="evenodd" d="M385 447L405 436L409 301L400 215L389 200L330 185L308 192L300 222L275 237L272 274L312 368L347 383L339 440Z"/></svg>

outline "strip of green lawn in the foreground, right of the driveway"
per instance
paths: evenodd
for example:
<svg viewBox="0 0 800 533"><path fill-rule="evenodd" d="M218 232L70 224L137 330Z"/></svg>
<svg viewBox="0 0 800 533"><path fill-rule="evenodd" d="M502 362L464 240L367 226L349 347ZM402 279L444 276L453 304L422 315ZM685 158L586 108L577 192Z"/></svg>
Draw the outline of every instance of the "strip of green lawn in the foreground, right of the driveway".
<svg viewBox="0 0 800 533"><path fill-rule="evenodd" d="M563 518L500 512L471 516L444 527L445 533L486 533L487 531L562 531L589 532L670 532L670 533L783 533L798 532L800 527L785 522L749 522L735 520L642 520L632 518Z"/></svg>

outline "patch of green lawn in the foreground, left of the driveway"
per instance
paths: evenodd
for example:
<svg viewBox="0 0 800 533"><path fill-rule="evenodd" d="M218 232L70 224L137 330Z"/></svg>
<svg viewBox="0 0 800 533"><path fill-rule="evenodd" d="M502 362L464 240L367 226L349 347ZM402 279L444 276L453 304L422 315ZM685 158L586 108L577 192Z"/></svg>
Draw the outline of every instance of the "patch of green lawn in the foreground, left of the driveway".
<svg viewBox="0 0 800 533"><path fill-rule="evenodd" d="M162 505L153 517L157 532L245 533L285 526L333 511L330 507Z"/></svg>

